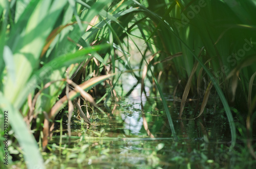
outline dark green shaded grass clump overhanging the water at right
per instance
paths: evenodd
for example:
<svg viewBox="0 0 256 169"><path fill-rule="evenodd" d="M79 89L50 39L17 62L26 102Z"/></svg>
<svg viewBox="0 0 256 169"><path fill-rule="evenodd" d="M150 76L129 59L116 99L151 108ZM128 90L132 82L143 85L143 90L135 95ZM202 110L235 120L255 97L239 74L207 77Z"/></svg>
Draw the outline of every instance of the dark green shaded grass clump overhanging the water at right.
<svg viewBox="0 0 256 169"><path fill-rule="evenodd" d="M152 34L145 37L147 42L153 41L156 48L148 46L148 49L153 53L161 51L152 60L159 63L154 66L154 74L158 74L160 81L166 79L164 83L176 81L183 92L180 117L188 96L196 98L199 95L200 99L203 93L200 116L210 93L216 90L228 117L233 147L236 129L229 106L247 113L250 108L241 101L245 103L248 95L255 94L248 84L256 71L253 57L255 4L238 1L161 1L155 6L150 1L143 4L134 2L144 14L142 17L151 18L148 22L153 26L153 29L150 27ZM162 62L178 53L182 56ZM170 75L172 78L164 78ZM211 88L212 85L214 88ZM248 101L250 103L250 99Z"/></svg>

